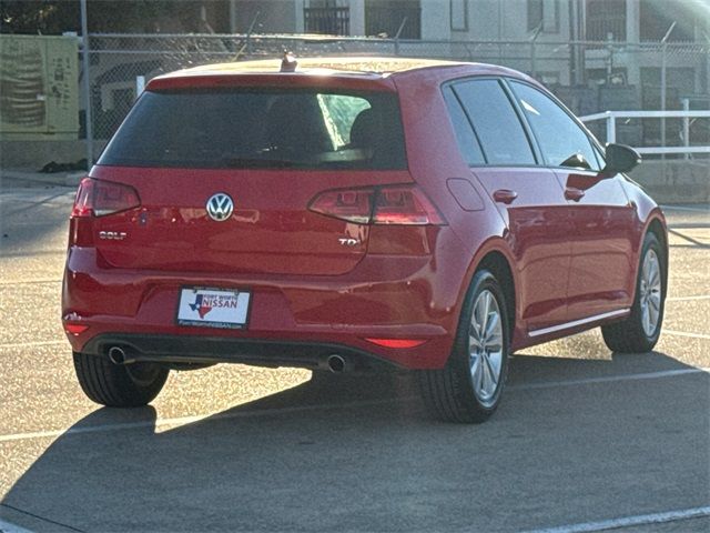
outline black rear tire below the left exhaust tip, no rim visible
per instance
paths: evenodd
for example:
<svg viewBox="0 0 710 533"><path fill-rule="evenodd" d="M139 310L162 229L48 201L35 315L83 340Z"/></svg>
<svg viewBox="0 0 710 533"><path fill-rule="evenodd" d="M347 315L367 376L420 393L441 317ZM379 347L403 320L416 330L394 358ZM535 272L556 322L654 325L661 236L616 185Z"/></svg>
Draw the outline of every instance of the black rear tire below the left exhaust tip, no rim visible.
<svg viewBox="0 0 710 533"><path fill-rule="evenodd" d="M161 391L169 373L155 363L120 365L79 352L74 352L74 370L84 394L110 408L146 405Z"/></svg>

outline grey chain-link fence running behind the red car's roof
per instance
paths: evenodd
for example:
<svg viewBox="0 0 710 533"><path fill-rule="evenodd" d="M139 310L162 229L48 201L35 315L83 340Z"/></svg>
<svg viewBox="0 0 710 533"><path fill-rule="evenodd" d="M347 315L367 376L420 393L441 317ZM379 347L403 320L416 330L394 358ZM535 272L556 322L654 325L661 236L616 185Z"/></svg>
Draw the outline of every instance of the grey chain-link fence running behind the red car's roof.
<svg viewBox="0 0 710 533"><path fill-rule="evenodd" d="M623 43L423 41L256 34L91 34L90 104L94 158L133 104L140 80L199 64L305 56L400 56L488 62L527 72L577 114L607 110L710 108L710 42ZM83 76L83 74L82 74ZM85 121L85 112L83 115ZM710 120L630 119L619 142L710 144ZM85 124L85 122L84 122ZM605 139L602 124L592 124ZM84 129L85 137L85 129Z"/></svg>

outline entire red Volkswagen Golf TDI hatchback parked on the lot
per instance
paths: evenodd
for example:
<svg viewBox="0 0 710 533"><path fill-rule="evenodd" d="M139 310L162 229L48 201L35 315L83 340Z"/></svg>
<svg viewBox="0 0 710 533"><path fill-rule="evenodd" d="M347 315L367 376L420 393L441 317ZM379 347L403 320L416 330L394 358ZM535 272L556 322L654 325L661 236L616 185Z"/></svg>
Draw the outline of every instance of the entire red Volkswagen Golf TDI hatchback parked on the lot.
<svg viewBox="0 0 710 533"><path fill-rule="evenodd" d="M95 402L170 369L416 370L479 422L510 353L601 326L657 342L658 205L519 72L393 58L153 79L77 193L63 325Z"/></svg>

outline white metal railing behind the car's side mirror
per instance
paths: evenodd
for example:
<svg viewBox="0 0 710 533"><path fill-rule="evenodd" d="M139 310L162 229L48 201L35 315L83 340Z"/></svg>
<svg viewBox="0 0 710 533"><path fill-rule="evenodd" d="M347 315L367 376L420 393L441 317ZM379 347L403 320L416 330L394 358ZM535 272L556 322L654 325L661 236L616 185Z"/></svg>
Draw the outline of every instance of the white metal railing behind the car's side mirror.
<svg viewBox="0 0 710 533"><path fill-rule="evenodd" d="M607 142L617 142L617 119L661 119L661 128L665 128L666 119L682 119L682 147L636 148L639 153L710 153L710 147L690 145L690 119L710 119L710 111L605 111L579 118L582 122L606 120Z"/></svg>

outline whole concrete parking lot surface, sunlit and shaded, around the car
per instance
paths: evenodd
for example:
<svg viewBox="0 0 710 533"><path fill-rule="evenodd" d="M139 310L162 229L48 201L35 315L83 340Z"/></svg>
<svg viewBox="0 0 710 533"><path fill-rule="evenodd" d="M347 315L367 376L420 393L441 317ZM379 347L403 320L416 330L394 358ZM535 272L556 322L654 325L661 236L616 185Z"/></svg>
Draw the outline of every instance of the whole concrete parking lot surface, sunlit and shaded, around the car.
<svg viewBox="0 0 710 533"><path fill-rule="evenodd" d="M466 426L427 418L407 375L221 365L149 408L91 403L60 324L72 198L0 189L0 532L710 531L707 205L666 209L655 352L598 331L525 350Z"/></svg>

